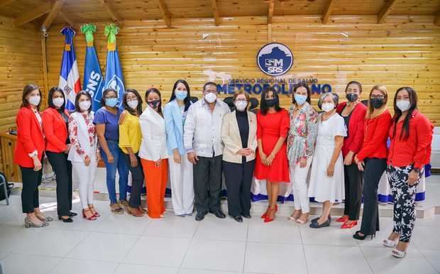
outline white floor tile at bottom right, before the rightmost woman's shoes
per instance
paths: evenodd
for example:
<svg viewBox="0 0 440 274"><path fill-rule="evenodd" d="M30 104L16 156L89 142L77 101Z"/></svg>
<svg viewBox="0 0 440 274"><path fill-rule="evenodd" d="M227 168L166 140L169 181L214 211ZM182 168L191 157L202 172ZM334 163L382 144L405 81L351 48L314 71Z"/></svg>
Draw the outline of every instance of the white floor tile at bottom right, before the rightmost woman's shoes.
<svg viewBox="0 0 440 274"><path fill-rule="evenodd" d="M374 273L437 273L417 248L409 250L407 256L402 259L394 258L391 255L391 248L371 248L361 246L361 250L365 258L367 258L368 264L373 268Z"/></svg>

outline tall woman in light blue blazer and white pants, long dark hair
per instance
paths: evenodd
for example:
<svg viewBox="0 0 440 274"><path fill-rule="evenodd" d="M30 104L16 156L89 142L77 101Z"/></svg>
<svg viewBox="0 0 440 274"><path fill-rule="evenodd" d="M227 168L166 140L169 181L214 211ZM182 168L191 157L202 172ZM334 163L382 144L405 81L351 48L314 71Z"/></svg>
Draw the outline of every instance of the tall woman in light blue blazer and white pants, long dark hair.
<svg viewBox="0 0 440 274"><path fill-rule="evenodd" d="M165 104L163 109L168 155L170 155L168 165L170 165L172 209L179 217L191 216L194 208L192 163L189 162L183 146L183 125L187 110L191 106L189 98L188 83L185 80L177 80L172 87L170 102Z"/></svg>

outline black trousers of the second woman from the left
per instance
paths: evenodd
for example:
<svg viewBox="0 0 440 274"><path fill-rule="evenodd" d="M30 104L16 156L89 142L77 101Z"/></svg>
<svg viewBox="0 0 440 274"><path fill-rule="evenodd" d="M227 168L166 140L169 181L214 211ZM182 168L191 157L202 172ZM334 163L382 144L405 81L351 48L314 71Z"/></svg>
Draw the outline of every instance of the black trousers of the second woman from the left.
<svg viewBox="0 0 440 274"><path fill-rule="evenodd" d="M57 181L58 216L69 216L72 210L72 163L66 153L46 151Z"/></svg>

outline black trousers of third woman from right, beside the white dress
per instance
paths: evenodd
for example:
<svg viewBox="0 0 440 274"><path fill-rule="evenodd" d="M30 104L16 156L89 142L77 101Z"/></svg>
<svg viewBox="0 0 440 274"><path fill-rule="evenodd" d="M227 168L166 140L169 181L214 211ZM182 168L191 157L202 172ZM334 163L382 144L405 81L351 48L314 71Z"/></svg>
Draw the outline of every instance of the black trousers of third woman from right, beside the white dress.
<svg viewBox="0 0 440 274"><path fill-rule="evenodd" d="M346 194L343 214L347 215L351 221L357 221L362 202L362 172L358 169L358 165L353 163L343 166L343 174Z"/></svg>

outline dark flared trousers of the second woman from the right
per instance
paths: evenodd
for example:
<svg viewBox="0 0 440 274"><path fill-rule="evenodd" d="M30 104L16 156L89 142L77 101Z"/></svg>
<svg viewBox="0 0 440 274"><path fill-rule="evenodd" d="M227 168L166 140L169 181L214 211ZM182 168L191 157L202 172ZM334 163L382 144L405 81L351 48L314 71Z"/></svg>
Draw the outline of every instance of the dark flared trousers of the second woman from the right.
<svg viewBox="0 0 440 274"><path fill-rule="evenodd" d="M373 235L379 231L378 186L387 168L387 159L365 158L364 163L361 233Z"/></svg>

